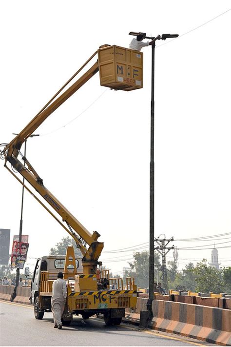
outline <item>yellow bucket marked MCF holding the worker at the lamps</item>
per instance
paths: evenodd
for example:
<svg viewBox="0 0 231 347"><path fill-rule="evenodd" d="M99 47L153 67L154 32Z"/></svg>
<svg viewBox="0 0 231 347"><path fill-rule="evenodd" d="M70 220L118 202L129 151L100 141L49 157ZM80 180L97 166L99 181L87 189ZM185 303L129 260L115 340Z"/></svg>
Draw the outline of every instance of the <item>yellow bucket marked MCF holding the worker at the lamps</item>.
<svg viewBox="0 0 231 347"><path fill-rule="evenodd" d="M100 84L112 89L143 87L143 53L116 45L98 49Z"/></svg>

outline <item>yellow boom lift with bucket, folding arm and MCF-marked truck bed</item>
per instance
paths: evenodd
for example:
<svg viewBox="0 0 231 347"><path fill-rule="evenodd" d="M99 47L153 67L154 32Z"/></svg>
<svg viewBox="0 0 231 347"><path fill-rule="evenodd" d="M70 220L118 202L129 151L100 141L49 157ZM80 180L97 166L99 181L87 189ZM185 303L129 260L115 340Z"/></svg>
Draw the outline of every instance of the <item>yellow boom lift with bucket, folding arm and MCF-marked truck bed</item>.
<svg viewBox="0 0 231 347"><path fill-rule="evenodd" d="M76 77L76 75L97 53L98 60L66 91L59 95L60 92L74 79L74 77ZM27 185L24 184L24 187L73 237L77 247L80 248L83 255L82 274L77 275L74 250L70 247L67 249L64 266L64 279L67 279L68 286L66 312L69 312L69 318L72 314L78 313L82 314L85 318L96 313L103 313L107 324L119 324L121 322L121 317L124 315L125 308L135 308L136 286L134 284L134 279L130 278L127 281L126 290L124 290L124 288L119 284L119 281L117 290L110 290L109 279L107 276L106 281L101 279L101 287L99 290L98 282L100 282L100 280L98 280L98 272L101 272L102 263L98 261L98 258L103 249L103 243L98 242L100 236L99 233L94 231L93 234L91 234L44 186L42 178L28 159L23 157L20 148L25 140L33 134L33 132L46 120L48 116L50 116L63 102L73 95L84 83L89 81L98 71L100 72L100 84L103 86L126 91L142 88L142 64L143 55L141 52L115 45L100 46L92 57L86 61L77 73L67 83L65 83L65 85L42 108L33 120L29 122L29 124L27 124L1 152L1 155L5 159L4 166L21 184L23 184L13 169L7 166L7 162L10 163L14 170L24 177L24 179L45 200L45 202L55 210L59 215L59 218L47 207L46 204L34 195ZM19 160L19 155L22 157L22 161ZM62 221L60 220L60 217ZM47 262L47 260L43 261ZM71 273L68 270L70 265L74 268L74 271L71 271ZM50 311L52 282L54 280L54 278L49 275L47 266L41 266L39 274L38 291L34 292L32 300L35 304L35 316L37 319L43 317L44 311ZM75 277L73 277L74 275ZM75 280L75 284L71 283L71 280L73 279Z"/></svg>

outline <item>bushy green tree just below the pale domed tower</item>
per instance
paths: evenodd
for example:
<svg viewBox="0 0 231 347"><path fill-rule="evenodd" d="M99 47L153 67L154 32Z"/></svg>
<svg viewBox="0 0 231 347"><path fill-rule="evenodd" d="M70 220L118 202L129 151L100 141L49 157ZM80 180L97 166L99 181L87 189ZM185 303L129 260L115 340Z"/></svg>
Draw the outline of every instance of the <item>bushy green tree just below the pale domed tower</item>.
<svg viewBox="0 0 231 347"><path fill-rule="evenodd" d="M203 293L224 292L225 283L222 278L222 271L215 267L207 266L206 259L197 263L193 269L196 281L196 291Z"/></svg>

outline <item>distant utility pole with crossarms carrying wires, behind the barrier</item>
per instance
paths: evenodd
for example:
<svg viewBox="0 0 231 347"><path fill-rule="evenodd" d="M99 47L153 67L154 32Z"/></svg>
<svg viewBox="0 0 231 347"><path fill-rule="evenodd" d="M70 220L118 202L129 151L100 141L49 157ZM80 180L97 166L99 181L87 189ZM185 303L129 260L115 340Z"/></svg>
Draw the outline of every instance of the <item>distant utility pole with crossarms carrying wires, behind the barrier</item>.
<svg viewBox="0 0 231 347"><path fill-rule="evenodd" d="M167 245L173 241L173 237L171 239L166 239L165 235L164 235L164 239L159 239L159 237L158 237L158 238L154 238L154 241L158 245L158 246L154 247L154 249L156 249L157 252L162 257L162 266L161 266L162 277L161 277L161 280L163 281L163 287L164 287L164 289L168 289L166 254L170 251L170 249L174 249L174 245L172 247L167 247Z"/></svg>

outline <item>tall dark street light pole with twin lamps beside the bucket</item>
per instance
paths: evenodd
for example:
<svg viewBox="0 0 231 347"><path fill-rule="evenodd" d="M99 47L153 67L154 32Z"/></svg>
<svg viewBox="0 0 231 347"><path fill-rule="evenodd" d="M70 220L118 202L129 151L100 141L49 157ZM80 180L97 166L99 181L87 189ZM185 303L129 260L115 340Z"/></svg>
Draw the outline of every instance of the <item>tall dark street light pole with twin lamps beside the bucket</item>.
<svg viewBox="0 0 231 347"><path fill-rule="evenodd" d="M150 231L149 231L149 299L147 311L141 311L140 326L147 327L153 317L152 302L154 300L154 66L155 41L177 38L178 34L162 34L148 37L145 33L131 31L129 35L143 35L143 39L151 39L152 43L152 90L151 90L151 146L150 146Z"/></svg>

